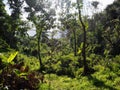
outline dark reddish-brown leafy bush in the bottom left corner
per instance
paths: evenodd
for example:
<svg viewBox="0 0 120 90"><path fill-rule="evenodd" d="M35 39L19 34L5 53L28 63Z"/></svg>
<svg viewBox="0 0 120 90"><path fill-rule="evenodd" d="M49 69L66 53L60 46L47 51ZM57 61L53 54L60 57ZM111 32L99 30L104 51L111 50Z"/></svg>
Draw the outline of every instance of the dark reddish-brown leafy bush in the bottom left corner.
<svg viewBox="0 0 120 90"><path fill-rule="evenodd" d="M22 64L9 64L0 73L0 89L4 90L36 90L43 82L43 75L38 72L28 72L28 67L23 68Z"/></svg>

